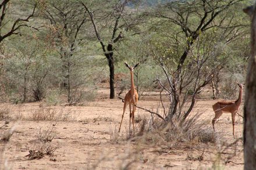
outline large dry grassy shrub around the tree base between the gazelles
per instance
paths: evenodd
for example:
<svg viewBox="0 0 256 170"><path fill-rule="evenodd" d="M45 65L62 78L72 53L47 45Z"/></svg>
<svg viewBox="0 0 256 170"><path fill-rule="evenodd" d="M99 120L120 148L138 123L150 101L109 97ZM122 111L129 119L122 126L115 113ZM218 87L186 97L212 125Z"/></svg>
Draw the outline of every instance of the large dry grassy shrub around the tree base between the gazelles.
<svg viewBox="0 0 256 170"><path fill-rule="evenodd" d="M165 123L153 117L144 116L136 128L134 140L146 144L168 144L170 147L180 143L215 143L218 133L214 133L209 121L201 120L195 114L183 120L182 117L173 117ZM130 138L129 138L130 139Z"/></svg>

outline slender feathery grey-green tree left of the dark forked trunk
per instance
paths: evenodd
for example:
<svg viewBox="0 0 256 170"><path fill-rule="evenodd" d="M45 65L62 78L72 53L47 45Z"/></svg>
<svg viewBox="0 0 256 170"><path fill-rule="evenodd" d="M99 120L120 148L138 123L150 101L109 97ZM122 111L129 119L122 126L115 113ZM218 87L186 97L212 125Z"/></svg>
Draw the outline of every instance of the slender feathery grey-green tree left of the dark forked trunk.
<svg viewBox="0 0 256 170"><path fill-rule="evenodd" d="M73 73L74 67L81 60L81 56L77 56L76 52L77 47L86 41L81 37L80 32L85 28L87 16L83 15L84 10L80 3L73 1L48 2L42 12L42 16L50 23L48 28L52 41L61 57L61 88L67 89L67 102L74 102L72 88L78 85L74 82Z"/></svg>

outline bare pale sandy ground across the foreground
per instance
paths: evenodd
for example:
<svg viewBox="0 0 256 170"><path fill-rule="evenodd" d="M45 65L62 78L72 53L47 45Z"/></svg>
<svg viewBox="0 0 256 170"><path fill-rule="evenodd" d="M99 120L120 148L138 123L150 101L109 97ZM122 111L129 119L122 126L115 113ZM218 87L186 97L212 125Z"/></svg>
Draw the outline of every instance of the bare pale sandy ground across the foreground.
<svg viewBox="0 0 256 170"><path fill-rule="evenodd" d="M180 147L163 150L164 146L138 144L130 140L115 142L122 116L123 103L120 99L108 99L108 90L98 91L95 102L84 106L47 106L45 103L1 104L9 110L15 120L0 121L1 135L5 131L13 132L9 142L0 142L0 169L243 169L243 143L239 140L235 147L223 153L218 150L225 146L218 143L205 143L200 149ZM198 100L194 113L203 111L204 119L211 125L214 117L212 104L216 100ZM158 96L144 97L138 106L148 109L158 107ZM66 121L33 121L33 115L44 110L67 118ZM128 109L127 109L128 111ZM240 111L241 113L241 111ZM136 117L148 114L136 110ZM5 124L8 123L8 124ZM230 114L223 114L216 123L216 131L222 132L226 145L242 137L243 120L237 116L236 138L232 136ZM52 129L54 139L47 144L56 147L52 155L41 159L28 160L29 150L40 146L40 131ZM129 114L125 114L122 132L129 129ZM199 147L198 147L199 148ZM204 159L188 159L203 155ZM226 164L225 164L226 161Z"/></svg>

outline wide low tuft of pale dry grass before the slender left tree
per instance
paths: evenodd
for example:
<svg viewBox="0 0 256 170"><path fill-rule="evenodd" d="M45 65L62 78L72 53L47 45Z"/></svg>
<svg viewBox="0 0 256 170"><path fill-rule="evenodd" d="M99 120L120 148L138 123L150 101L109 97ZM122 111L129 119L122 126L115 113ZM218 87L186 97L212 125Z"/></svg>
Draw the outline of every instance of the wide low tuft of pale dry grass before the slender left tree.
<svg viewBox="0 0 256 170"><path fill-rule="evenodd" d="M30 115L33 121L67 121L71 118L69 113L64 113L62 109L56 111L54 108L41 107Z"/></svg>

